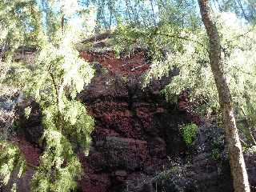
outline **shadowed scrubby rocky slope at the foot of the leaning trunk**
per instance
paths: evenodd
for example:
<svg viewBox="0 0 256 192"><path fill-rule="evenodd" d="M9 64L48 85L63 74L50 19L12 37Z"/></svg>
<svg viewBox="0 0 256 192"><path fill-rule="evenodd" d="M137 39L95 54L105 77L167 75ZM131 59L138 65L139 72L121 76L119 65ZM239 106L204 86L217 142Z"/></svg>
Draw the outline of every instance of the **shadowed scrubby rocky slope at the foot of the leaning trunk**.
<svg viewBox="0 0 256 192"><path fill-rule="evenodd" d="M256 191L255 155L244 155L250 188ZM210 124L200 126L196 140L190 146L190 154L183 161L171 162L170 169L156 174L148 183L158 186L158 191L234 191L223 129Z"/></svg>

